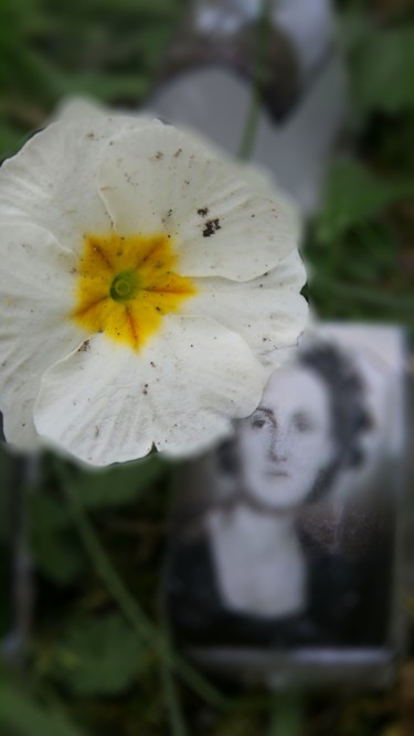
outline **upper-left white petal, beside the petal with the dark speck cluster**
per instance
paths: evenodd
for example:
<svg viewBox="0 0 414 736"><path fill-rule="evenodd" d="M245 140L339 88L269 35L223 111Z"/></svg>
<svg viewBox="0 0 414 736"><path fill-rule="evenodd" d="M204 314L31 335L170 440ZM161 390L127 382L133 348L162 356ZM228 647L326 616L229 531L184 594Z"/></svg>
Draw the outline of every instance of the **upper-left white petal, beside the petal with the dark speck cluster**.
<svg viewBox="0 0 414 736"><path fill-rule="evenodd" d="M120 128L142 125L139 118L98 111L51 124L1 167L0 217L44 227L78 252L84 232L112 226L97 191L103 148Z"/></svg>

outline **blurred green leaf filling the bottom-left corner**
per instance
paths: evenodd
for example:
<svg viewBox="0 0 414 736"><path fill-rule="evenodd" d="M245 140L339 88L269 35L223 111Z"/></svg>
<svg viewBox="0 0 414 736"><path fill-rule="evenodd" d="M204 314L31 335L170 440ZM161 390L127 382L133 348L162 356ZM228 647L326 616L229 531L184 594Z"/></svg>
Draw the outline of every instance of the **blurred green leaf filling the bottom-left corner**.
<svg viewBox="0 0 414 736"><path fill-rule="evenodd" d="M2 682L0 721L15 736L85 736L63 712L41 705L33 696L6 682Z"/></svg>

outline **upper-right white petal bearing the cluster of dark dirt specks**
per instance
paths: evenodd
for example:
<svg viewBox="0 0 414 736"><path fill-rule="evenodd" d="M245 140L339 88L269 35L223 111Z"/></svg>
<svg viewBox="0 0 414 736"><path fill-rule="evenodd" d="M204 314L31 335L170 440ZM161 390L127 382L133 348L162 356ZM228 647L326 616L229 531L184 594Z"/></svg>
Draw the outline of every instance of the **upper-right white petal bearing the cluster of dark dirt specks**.
<svg viewBox="0 0 414 736"><path fill-rule="evenodd" d="M297 217L285 200L257 193L235 167L171 126L112 140L99 188L117 232L177 238L185 276L255 278L297 246Z"/></svg>

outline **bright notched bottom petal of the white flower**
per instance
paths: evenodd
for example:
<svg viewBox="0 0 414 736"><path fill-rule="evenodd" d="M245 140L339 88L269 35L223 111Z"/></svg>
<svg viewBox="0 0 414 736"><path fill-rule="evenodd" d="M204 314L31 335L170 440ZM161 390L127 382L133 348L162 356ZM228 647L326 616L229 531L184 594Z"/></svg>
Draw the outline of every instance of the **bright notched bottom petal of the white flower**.
<svg viewBox="0 0 414 736"><path fill-rule="evenodd" d="M267 373L217 322L167 316L137 355L104 335L50 367L34 407L40 435L81 460L109 465L206 449L257 406Z"/></svg>

